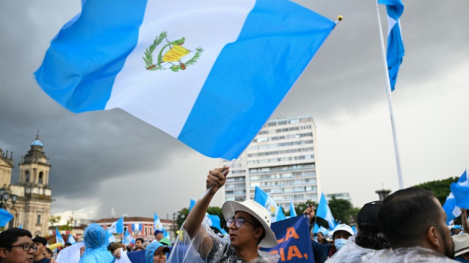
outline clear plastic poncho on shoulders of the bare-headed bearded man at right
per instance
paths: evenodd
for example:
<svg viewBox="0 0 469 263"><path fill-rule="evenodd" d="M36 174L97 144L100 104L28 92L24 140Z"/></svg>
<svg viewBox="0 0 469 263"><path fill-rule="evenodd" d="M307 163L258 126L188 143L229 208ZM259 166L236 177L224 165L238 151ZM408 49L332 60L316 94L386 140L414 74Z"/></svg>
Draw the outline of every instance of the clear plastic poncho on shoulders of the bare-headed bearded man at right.
<svg viewBox="0 0 469 263"><path fill-rule="evenodd" d="M447 258L434 250L423 247L377 250L368 257L366 263L454 263L457 261Z"/></svg>

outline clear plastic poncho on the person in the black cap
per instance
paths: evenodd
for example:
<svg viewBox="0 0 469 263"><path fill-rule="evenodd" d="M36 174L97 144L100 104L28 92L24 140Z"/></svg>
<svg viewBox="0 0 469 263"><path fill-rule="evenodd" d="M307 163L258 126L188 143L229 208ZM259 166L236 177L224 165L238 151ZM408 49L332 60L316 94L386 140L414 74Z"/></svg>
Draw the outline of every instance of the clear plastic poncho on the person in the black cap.
<svg viewBox="0 0 469 263"><path fill-rule="evenodd" d="M373 256L374 249L362 248L355 244L355 236L349 237L344 247L339 249L326 263L361 263Z"/></svg>

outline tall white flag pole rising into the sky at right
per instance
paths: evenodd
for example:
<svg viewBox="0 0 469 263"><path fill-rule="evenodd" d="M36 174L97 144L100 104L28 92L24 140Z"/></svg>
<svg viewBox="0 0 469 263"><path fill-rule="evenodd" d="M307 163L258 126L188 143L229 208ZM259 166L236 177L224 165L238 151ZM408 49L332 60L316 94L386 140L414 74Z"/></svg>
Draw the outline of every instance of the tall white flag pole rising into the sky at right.
<svg viewBox="0 0 469 263"><path fill-rule="evenodd" d="M386 76L386 94L388 95L389 113L391 116L392 139L394 141L394 153L396 156L397 179L399 181L399 189L403 189L404 186L402 183L402 173L400 170L399 150L397 149L397 136L396 136L396 130L395 130L395 124L394 124L394 113L392 110L391 82L389 79L388 61L386 59L386 51L385 51L384 40L383 40L383 29L381 28L381 17L380 17L380 9L378 5L378 0L375 0L375 2L376 2L376 16L378 18L378 29L380 32L381 56L383 58L384 72Z"/></svg>

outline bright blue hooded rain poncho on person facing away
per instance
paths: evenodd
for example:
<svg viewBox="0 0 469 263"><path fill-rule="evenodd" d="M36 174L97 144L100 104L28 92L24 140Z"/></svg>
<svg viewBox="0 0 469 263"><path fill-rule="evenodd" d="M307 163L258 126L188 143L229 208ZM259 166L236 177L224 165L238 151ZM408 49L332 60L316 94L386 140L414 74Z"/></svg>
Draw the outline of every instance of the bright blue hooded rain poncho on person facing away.
<svg viewBox="0 0 469 263"><path fill-rule="evenodd" d="M108 235L101 225L91 224L86 227L83 239L85 252L79 263L113 263L114 257L108 251Z"/></svg>

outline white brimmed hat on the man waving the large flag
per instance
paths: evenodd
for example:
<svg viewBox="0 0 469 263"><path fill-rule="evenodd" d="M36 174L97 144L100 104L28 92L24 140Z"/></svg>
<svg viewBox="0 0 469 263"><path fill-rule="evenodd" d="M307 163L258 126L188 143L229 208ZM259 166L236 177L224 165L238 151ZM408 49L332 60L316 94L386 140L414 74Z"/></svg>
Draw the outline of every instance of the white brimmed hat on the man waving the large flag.
<svg viewBox="0 0 469 263"><path fill-rule="evenodd" d="M274 231L271 229L271 214L265 207L260 205L254 200L246 200L242 203L235 201L226 201L222 206L223 216L225 220L233 218L237 211L242 211L253 216L264 228L266 236L259 243L260 247L272 248L277 245L277 239L275 238Z"/></svg>

